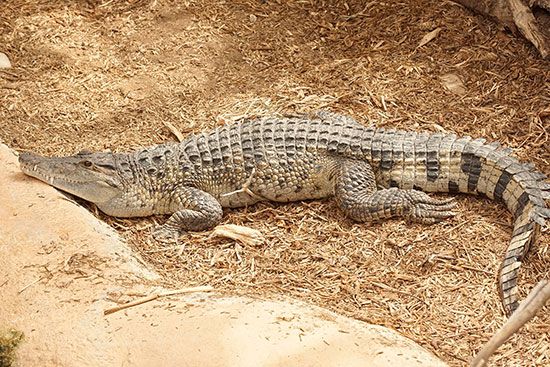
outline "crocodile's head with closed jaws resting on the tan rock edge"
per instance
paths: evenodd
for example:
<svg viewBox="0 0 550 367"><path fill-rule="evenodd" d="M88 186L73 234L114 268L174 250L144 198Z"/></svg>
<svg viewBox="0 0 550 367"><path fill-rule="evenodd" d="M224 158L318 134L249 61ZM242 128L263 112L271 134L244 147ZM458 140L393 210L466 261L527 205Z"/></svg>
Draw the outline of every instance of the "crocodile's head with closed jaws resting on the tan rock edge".
<svg viewBox="0 0 550 367"><path fill-rule="evenodd" d="M111 153L78 153L68 157L19 155L21 170L60 190L95 204L107 203L124 191Z"/></svg>

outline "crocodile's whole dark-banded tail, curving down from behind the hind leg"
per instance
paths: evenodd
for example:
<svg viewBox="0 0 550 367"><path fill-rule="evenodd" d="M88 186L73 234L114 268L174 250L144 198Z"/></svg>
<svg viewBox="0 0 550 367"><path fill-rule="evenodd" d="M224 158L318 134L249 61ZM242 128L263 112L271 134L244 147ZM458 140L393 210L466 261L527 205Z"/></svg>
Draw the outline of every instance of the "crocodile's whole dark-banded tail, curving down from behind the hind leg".
<svg viewBox="0 0 550 367"><path fill-rule="evenodd" d="M362 152L382 187L483 194L504 202L514 217L514 232L501 266L499 288L505 312L514 312L521 262L550 218L546 176L533 164L512 157L512 149L485 139L383 129L365 129L361 139Z"/></svg>

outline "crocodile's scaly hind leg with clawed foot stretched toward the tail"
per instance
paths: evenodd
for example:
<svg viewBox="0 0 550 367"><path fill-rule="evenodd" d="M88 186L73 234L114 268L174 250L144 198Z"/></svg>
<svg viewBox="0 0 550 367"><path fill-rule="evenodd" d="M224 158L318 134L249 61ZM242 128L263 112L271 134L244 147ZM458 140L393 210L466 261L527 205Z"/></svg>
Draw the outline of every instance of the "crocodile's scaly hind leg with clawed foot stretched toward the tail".
<svg viewBox="0 0 550 367"><path fill-rule="evenodd" d="M418 190L378 190L367 162L342 162L334 195L344 213L359 222L404 217L420 223L437 223L454 215L453 199L437 200Z"/></svg>

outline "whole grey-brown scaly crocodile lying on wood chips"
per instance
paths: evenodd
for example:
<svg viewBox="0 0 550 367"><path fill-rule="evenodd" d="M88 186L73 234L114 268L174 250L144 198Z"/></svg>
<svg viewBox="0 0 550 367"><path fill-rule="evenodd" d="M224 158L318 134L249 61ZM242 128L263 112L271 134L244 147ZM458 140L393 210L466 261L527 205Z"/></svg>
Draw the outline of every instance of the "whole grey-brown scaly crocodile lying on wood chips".
<svg viewBox="0 0 550 367"><path fill-rule="evenodd" d="M455 202L426 192L483 194L514 217L500 267L506 314L518 308L518 274L550 218L550 183L510 148L485 139L367 127L349 116L242 119L180 143L130 153L43 157L22 152L22 171L116 217L169 214L154 237L216 226L224 207L334 197L358 222L402 217L432 224Z"/></svg>

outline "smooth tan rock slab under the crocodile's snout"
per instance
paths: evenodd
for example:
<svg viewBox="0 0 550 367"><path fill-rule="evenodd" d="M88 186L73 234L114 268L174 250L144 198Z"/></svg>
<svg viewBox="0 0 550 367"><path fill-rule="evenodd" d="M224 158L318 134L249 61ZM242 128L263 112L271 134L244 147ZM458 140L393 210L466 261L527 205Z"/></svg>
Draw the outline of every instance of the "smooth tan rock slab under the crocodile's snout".
<svg viewBox="0 0 550 367"><path fill-rule="evenodd" d="M193 293L104 315L162 290L158 277L4 145L0 167L0 326L24 334L18 366L445 366L394 331L291 300Z"/></svg>

